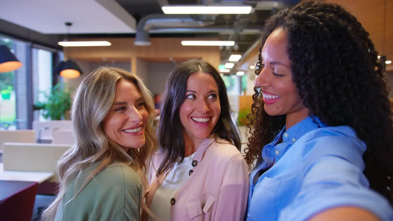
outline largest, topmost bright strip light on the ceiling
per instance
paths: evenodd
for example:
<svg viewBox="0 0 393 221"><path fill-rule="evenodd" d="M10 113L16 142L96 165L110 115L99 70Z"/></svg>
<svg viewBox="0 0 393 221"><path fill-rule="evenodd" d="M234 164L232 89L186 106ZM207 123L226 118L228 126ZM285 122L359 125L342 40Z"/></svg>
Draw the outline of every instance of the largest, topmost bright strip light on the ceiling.
<svg viewBox="0 0 393 221"><path fill-rule="evenodd" d="M250 14L251 6L162 6L165 14Z"/></svg>

